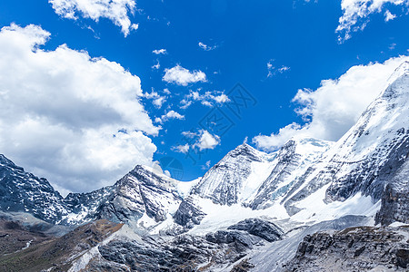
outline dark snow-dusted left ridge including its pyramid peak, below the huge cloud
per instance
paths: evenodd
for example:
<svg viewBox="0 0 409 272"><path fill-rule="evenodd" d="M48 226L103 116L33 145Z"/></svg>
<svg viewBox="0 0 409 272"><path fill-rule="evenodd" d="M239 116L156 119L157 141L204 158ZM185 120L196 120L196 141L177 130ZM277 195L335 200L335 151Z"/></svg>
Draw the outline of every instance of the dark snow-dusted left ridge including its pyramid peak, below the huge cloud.
<svg viewBox="0 0 409 272"><path fill-rule="evenodd" d="M163 221L182 197L175 181L146 167L134 170L115 185L89 193L70 193L65 199L45 179L25 172L0 155L0 210L22 211L46 222L80 225L95 219L135 221L144 214Z"/></svg>

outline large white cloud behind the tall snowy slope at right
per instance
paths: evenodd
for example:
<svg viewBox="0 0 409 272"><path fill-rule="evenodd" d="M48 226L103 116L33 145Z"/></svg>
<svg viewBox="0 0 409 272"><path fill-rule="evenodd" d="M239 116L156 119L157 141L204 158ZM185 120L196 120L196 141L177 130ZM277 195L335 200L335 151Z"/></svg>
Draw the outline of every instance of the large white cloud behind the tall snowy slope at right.
<svg viewBox="0 0 409 272"><path fill-rule="evenodd" d="M336 80L324 80L317 90L299 90L294 102L306 124L292 123L278 133L254 137L261 149L272 151L294 136L337 141L348 131L365 108L387 86L394 69L409 56L391 58L384 63L369 63L350 68Z"/></svg>

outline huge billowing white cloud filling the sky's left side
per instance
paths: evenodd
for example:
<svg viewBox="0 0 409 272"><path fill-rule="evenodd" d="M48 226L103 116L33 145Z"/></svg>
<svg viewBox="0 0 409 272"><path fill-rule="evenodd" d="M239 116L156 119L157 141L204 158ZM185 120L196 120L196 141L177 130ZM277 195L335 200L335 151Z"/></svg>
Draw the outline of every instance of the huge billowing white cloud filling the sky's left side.
<svg viewBox="0 0 409 272"><path fill-rule="evenodd" d="M32 24L0 32L0 151L75 191L150 164L156 147L145 134L158 128L138 101L140 79L65 44L40 49L49 36Z"/></svg>

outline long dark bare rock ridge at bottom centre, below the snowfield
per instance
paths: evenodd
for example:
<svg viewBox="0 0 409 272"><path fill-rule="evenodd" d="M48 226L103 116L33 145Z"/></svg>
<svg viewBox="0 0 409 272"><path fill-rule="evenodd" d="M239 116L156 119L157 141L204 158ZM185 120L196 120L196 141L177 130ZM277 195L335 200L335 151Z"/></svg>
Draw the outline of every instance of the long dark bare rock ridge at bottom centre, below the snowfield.
<svg viewBox="0 0 409 272"><path fill-rule="evenodd" d="M257 232L254 224L268 226ZM234 228L245 228L244 230ZM254 234L250 234L252 229ZM273 234L274 233L274 234ZM263 246L267 239L281 239L282 229L264 220L249 220L226 230L205 236L179 235L170 240L149 237L143 241L113 240L98 248L105 266L115 264L131 271L197 271L224 269L242 259L253 248ZM97 266L90 263L88 266Z"/></svg>

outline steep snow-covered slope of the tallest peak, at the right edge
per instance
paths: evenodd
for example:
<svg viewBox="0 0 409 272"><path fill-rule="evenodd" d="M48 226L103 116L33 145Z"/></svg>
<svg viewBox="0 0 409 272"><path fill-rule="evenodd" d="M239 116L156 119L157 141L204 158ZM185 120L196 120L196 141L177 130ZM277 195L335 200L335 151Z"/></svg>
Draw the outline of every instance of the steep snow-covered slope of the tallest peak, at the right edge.
<svg viewBox="0 0 409 272"><path fill-rule="evenodd" d="M324 203L344 201L357 193L370 196L374 204L382 198L386 184L407 160L409 151L408 66L403 63L396 70L391 76L396 78L394 82L295 183L284 199L290 215L301 210L297 202L324 186Z"/></svg>

